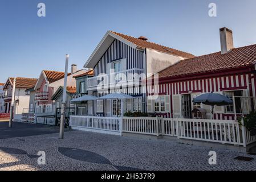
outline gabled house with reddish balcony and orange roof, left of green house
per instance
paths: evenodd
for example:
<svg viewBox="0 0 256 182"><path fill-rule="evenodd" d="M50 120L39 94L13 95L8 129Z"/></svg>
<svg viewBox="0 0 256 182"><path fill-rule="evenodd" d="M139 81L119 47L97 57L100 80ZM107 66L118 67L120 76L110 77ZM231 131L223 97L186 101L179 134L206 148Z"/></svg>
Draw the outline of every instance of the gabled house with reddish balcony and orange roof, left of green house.
<svg viewBox="0 0 256 182"><path fill-rule="evenodd" d="M71 65L71 72L68 73L67 77L67 86L75 88L76 80L73 77L85 72L84 69L77 71L76 65ZM30 105L27 107L25 113L23 113L25 116L24 121L31 121L31 118L33 118L32 115L34 115L34 122L37 121L38 117L55 117L56 108L60 106L55 105L55 100L52 100L52 96L63 85L64 72L43 70L34 88L28 90L30 92Z"/></svg>

